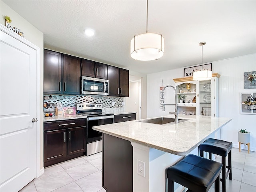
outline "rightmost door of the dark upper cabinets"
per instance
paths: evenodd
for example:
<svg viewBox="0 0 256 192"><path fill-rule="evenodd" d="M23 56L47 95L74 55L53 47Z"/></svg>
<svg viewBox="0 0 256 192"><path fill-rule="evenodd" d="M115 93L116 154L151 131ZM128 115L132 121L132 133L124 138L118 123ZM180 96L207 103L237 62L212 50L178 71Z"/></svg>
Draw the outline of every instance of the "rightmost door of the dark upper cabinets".
<svg viewBox="0 0 256 192"><path fill-rule="evenodd" d="M129 70L119 70L120 97L129 97Z"/></svg>

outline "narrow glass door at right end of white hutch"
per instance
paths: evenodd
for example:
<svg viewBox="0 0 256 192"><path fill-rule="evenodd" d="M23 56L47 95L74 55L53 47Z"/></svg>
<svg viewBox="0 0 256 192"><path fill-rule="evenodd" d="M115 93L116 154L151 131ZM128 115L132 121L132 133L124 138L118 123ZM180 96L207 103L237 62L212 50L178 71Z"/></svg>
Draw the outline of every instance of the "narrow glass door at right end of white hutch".
<svg viewBox="0 0 256 192"><path fill-rule="evenodd" d="M199 83L199 112L200 115L212 116L212 83L211 80Z"/></svg>

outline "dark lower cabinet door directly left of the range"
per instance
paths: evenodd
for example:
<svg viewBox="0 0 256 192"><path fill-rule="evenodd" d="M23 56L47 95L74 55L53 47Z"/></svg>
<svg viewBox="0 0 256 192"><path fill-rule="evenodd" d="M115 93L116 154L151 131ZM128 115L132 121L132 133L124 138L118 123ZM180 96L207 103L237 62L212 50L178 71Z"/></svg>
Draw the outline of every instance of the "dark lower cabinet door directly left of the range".
<svg viewBox="0 0 256 192"><path fill-rule="evenodd" d="M85 152L86 131L85 127L68 129L68 155Z"/></svg>

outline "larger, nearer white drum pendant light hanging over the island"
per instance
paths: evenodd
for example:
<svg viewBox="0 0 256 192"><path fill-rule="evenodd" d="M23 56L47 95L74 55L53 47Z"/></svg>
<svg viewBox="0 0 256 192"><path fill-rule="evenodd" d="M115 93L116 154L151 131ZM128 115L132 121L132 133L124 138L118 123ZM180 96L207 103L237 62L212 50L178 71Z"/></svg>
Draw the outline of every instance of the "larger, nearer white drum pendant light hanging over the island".
<svg viewBox="0 0 256 192"><path fill-rule="evenodd" d="M157 60L164 55L164 38L160 34L148 33L148 0L146 33L135 35L131 40L131 57L140 61Z"/></svg>

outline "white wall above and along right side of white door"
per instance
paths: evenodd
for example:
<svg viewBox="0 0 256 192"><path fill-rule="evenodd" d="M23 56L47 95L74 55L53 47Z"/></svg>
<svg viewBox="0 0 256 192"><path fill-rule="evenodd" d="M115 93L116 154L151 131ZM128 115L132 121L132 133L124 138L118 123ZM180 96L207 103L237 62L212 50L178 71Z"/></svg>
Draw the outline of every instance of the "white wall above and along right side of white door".
<svg viewBox="0 0 256 192"><path fill-rule="evenodd" d="M40 106L37 106L39 108L43 108L43 66L44 66L44 34L40 32L37 28L35 28L32 24L30 24L28 21L26 21L22 16L20 16L18 13L16 13L14 10L12 10L9 6L7 6L4 2L0 1L0 23L2 25L5 25L4 16L9 16L12 22L10 23L11 26L14 26L16 28L19 28L24 33L24 38L28 41L30 41L32 44L38 46L40 48L40 100L42 101ZM41 121L37 122L37 124L40 124L40 169L44 167L44 148L43 148L43 111L40 114L37 114L37 118L40 116ZM39 118L38 118L39 119Z"/></svg>

